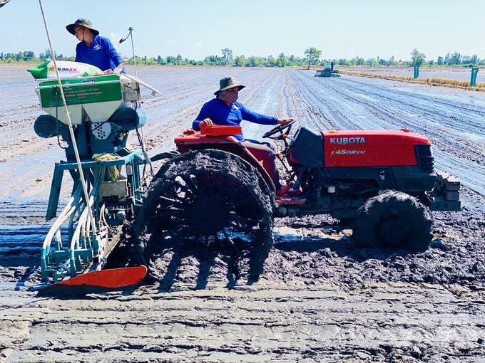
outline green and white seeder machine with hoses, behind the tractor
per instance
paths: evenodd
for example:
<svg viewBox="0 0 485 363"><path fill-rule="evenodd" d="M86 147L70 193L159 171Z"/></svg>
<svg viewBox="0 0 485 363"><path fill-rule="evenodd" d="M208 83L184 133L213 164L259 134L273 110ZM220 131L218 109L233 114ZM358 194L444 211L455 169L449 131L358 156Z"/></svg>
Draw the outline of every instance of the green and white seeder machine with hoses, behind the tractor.
<svg viewBox="0 0 485 363"><path fill-rule="evenodd" d="M146 155L142 149L129 150L126 141L146 117L139 109L140 83L133 77L96 75L38 83L36 93L47 115L36 119L36 134L68 144L66 161L54 167L47 220L58 213L64 172L74 181L71 198L42 246L41 277L49 284L101 270L118 241L118 226L141 204L140 166L146 164Z"/></svg>

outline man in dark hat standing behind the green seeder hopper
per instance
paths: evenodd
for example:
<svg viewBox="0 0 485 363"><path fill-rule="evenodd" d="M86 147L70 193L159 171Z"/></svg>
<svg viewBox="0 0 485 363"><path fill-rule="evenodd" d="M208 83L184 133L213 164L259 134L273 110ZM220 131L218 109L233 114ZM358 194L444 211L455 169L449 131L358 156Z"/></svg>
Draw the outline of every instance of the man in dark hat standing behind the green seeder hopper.
<svg viewBox="0 0 485 363"><path fill-rule="evenodd" d="M125 73L121 56L113 43L108 38L100 36L89 19L80 18L68 24L66 29L79 41L76 46L76 62L96 65L106 74Z"/></svg>

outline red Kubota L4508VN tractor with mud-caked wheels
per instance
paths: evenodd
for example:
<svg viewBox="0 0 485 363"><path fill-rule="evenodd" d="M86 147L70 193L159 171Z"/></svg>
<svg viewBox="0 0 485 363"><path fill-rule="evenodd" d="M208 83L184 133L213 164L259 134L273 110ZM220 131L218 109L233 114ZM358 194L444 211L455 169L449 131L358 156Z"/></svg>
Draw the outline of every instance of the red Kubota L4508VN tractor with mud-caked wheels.
<svg viewBox="0 0 485 363"><path fill-rule="evenodd" d="M153 178L135 231L145 258L176 241L228 241L249 250L257 275L272 244L274 217L331 214L352 223L357 247L422 251L430 210L459 211L460 183L434 172L428 138L408 130L315 132L294 121L262 135L284 143L291 188L275 195L262 162L235 140L240 127L185 130ZM237 129L237 130L236 130ZM155 247L156 246L156 247ZM259 265L259 267L257 267Z"/></svg>

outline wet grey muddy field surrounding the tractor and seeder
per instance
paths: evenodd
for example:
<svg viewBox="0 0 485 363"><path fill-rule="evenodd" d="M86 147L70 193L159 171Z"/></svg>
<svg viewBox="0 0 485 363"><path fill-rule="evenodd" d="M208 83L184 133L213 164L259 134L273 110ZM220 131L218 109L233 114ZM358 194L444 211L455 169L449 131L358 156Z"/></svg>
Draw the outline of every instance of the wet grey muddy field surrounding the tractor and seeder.
<svg viewBox="0 0 485 363"><path fill-rule="evenodd" d="M193 248L163 283L39 298L63 150L34 133L41 110L26 68L1 66L0 362L485 362L485 94L296 69L138 67L165 95L143 89L150 153L173 148L225 75L246 85L240 100L252 110L315 130L428 135L436 170L461 180L462 210L433 212L422 253L355 248L328 216L276 219L257 283L244 266L231 278L225 253ZM247 138L268 130L242 127Z"/></svg>

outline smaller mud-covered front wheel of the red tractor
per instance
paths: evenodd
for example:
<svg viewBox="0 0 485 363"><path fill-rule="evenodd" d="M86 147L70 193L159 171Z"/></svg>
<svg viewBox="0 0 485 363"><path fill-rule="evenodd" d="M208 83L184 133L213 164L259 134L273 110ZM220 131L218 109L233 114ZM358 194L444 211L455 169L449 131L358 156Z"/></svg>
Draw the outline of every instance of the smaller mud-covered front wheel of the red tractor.
<svg viewBox="0 0 485 363"><path fill-rule="evenodd" d="M352 236L359 247L424 251L433 237L431 212L414 196L385 191L357 210Z"/></svg>

